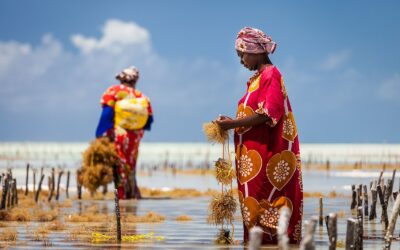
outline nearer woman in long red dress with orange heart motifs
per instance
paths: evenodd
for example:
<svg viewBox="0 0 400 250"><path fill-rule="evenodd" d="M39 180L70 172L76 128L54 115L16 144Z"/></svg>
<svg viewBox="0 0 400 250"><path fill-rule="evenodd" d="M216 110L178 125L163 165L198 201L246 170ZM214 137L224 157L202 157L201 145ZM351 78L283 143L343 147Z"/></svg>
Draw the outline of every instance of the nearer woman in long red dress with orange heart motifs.
<svg viewBox="0 0 400 250"><path fill-rule="evenodd" d="M220 116L224 130L235 130L236 173L244 241L253 226L263 229L263 243L277 242L279 211L290 211L288 236L301 240L303 184L299 140L283 77L268 55L276 43L261 30L243 28L235 47L240 62L256 71L239 100L235 119Z"/></svg>

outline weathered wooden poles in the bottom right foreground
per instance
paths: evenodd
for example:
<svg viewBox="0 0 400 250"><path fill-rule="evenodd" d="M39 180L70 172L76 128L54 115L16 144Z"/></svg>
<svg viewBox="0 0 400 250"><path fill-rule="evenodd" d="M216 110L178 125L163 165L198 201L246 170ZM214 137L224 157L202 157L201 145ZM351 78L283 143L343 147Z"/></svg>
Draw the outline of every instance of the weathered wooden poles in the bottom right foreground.
<svg viewBox="0 0 400 250"><path fill-rule="evenodd" d="M368 192L367 186L363 187L359 185L357 190L355 185L353 185L353 196L351 209L357 210L356 218L348 218L347 219L347 229L346 229L346 242L345 248L351 250L359 250L363 249L363 239L364 239L364 216L368 217L369 220L374 220L377 218L376 215L376 203L377 197L379 197L380 204L382 206L382 214L381 214L381 222L384 223L385 226L385 243L383 249L388 250L391 247L391 242L393 237L394 228L396 225L397 218L400 214L400 195L399 191L393 192L393 183L395 180L396 170L393 171L392 178L388 179L387 185L384 183L382 178L383 171L381 172L379 179L376 181L372 181L370 185L371 196L372 196L372 204L371 204L371 212L368 211ZM400 189L400 186L399 186ZM362 192L364 190L364 193ZM387 214L387 208L389 205L389 200L391 195L395 200L392 208L392 212L390 217ZM363 204L364 201L364 204ZM363 206L364 205L364 206ZM289 224L289 210L282 209L280 211L279 223L278 223L278 247L281 250L289 249L289 239L287 236L287 228ZM325 221L327 231L328 231L328 239L329 239L329 250L336 249L337 244L337 214L330 213L329 215L323 215L323 200L322 197L319 199L319 218L313 216L309 221L305 223L304 237L300 243L300 250L314 250L314 233L316 229L317 223L320 226L323 226ZM253 227L250 230L250 242L249 249L256 250L260 249L261 239L262 239L263 231L259 227Z"/></svg>

